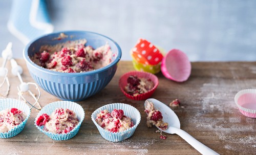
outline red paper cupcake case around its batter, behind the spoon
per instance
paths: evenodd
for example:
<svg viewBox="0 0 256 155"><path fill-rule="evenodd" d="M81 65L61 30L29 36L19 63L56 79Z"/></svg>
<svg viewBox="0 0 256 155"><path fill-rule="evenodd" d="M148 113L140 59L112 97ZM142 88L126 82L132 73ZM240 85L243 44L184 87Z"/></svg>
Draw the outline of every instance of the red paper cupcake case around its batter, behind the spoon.
<svg viewBox="0 0 256 155"><path fill-rule="evenodd" d="M136 75L137 77L140 77L140 78L151 79L154 82L154 87L152 88L152 90L150 90L144 94L139 94L137 96L127 94L125 92L125 86L127 85L127 78L131 75L133 75L133 76ZM119 79L119 87L120 87L122 93L127 98L130 98L133 100L145 100L145 99L150 98L153 95L153 93L156 91L157 86L158 86L158 78L154 74L147 73L147 72L132 71L132 72L123 74Z"/></svg>

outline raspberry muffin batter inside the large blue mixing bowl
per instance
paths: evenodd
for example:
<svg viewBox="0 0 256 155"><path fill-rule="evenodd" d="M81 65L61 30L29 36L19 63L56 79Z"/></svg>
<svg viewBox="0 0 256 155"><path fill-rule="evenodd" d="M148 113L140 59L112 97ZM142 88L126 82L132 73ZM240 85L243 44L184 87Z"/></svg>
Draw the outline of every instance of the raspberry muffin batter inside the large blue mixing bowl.
<svg viewBox="0 0 256 155"><path fill-rule="evenodd" d="M40 67L65 73L93 71L112 62L113 53L108 43L97 49L85 46L86 43L86 39L81 39L41 46L30 59Z"/></svg>

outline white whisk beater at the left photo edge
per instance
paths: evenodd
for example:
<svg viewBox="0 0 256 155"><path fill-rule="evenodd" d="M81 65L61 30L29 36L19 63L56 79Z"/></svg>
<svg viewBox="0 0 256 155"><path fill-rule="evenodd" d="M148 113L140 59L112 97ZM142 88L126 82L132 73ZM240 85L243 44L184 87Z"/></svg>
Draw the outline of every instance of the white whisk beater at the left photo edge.
<svg viewBox="0 0 256 155"><path fill-rule="evenodd" d="M3 81L0 83L0 88L4 87L5 83L7 86L4 93L0 93L0 96L7 97L10 90L10 82L7 77L8 69L5 68L5 65L7 60L10 60L12 58L12 42L9 42L6 49L2 52L2 57L4 61L3 61L2 67L0 68L0 77L3 77Z"/></svg>

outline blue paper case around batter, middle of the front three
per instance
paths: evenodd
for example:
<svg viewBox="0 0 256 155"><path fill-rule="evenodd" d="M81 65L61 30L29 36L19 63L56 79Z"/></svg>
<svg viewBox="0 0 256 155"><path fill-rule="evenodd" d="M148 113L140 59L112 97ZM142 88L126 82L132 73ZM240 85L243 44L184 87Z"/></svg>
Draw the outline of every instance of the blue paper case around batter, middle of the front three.
<svg viewBox="0 0 256 155"><path fill-rule="evenodd" d="M57 101L57 102L50 103L50 104L46 105L45 107L43 107L40 110L40 112L37 114L36 118L38 118L42 114L51 115L56 108L60 108L60 107L63 109L68 108L70 110L73 110L73 112L76 113L76 117L79 120L79 123L75 126L75 128L73 130L71 130L70 132L68 132L67 134L54 134L52 132L45 131L44 126L38 126L35 123L35 126L41 132L43 132L48 137L50 137L51 139L56 140L56 141L68 140L68 139L73 138L77 134L77 132L81 126L81 123L84 119L84 115L85 115L84 110L81 105L79 105L75 102L71 102L71 101Z"/></svg>

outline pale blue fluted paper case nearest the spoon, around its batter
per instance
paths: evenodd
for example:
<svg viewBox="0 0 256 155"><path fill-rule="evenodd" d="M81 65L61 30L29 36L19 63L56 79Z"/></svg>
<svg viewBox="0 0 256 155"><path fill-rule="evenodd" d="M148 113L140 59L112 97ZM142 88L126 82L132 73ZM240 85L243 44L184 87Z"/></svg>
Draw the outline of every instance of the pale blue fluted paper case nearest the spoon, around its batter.
<svg viewBox="0 0 256 155"><path fill-rule="evenodd" d="M103 129L101 126L97 124L96 117L97 117L97 114L99 114L104 109L109 110L109 112L112 112L112 110L114 109L122 109L124 112L124 115L131 118L131 120L134 123L134 126L121 132L110 132L108 130ZM111 103L111 104L104 105L96 109L92 114L92 121L97 126L100 132L100 135L104 139L111 142L119 142L133 136L136 127L140 123L140 119L141 119L140 112L135 107L129 104L124 104L124 103Z"/></svg>

